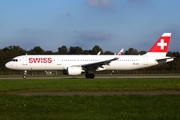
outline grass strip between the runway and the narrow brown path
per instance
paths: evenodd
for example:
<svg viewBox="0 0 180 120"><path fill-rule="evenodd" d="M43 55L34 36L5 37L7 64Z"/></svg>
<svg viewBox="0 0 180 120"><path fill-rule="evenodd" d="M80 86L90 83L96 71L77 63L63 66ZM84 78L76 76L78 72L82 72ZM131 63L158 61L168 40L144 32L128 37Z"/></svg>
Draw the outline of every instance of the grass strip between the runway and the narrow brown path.
<svg viewBox="0 0 180 120"><path fill-rule="evenodd" d="M0 80L0 92L11 91L150 91L180 90L179 78L110 78Z"/></svg>

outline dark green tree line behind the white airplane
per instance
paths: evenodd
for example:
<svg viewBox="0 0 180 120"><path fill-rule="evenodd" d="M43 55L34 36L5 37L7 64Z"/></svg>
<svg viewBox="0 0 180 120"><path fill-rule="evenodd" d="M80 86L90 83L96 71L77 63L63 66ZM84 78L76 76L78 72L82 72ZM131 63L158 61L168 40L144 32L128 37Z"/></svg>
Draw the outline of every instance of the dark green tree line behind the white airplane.
<svg viewBox="0 0 180 120"><path fill-rule="evenodd" d="M101 47L98 45L95 45L91 50L83 50L79 46L71 46L67 48L65 45L58 47L57 52L53 52L51 50L43 50L40 46L35 46L31 50L25 50L21 48L20 46L9 46L5 47L3 49L0 49L0 72L10 72L12 70L9 70L5 68L5 63L10 61L13 57L19 56L19 55L64 55L64 54L69 54L69 55L96 55L98 52L101 51L101 54L103 55L113 55L114 53L111 51L103 51ZM123 54L125 55L142 55L145 54L146 51L138 51L134 48L129 48L128 50L125 50ZM169 51L167 53L167 56L174 57L174 61L167 63L162 66L154 66L146 69L142 69L140 71L166 71L166 72L171 72L171 71L180 71L180 53L179 52L171 52ZM139 70L138 70L139 71Z"/></svg>

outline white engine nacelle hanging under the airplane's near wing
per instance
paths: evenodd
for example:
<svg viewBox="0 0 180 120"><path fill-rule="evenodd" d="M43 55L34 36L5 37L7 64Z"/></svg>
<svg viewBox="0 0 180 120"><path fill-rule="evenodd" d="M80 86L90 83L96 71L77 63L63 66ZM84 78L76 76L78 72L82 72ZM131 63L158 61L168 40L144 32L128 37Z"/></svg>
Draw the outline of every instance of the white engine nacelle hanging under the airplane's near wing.
<svg viewBox="0 0 180 120"><path fill-rule="evenodd" d="M63 75L80 75L81 72L81 67L68 67L67 70L63 70Z"/></svg>

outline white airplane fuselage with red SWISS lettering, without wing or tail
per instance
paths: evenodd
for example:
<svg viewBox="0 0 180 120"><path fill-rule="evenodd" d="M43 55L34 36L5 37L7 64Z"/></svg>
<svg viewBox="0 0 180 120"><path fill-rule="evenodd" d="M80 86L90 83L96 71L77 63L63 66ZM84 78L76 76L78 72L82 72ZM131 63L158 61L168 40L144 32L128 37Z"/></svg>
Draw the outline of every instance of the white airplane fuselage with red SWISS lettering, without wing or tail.
<svg viewBox="0 0 180 120"><path fill-rule="evenodd" d="M14 70L63 70L72 65L96 63L114 57L115 55L22 55L6 63L6 67ZM158 65L156 59L159 57L121 55L119 59L103 65L102 70L134 70L150 67Z"/></svg>

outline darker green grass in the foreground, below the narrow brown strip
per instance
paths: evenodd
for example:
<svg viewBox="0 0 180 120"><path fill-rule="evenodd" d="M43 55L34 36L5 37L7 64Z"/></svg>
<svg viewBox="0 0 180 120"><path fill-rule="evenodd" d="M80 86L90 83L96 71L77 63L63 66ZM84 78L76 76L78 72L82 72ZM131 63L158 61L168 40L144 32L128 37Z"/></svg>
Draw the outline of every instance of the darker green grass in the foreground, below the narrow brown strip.
<svg viewBox="0 0 180 120"><path fill-rule="evenodd" d="M0 95L0 119L180 119L180 95Z"/></svg>

